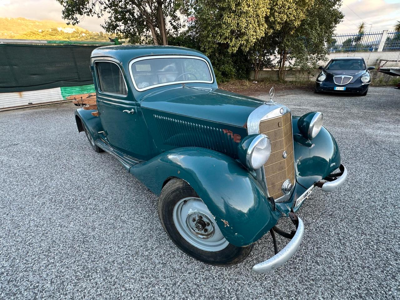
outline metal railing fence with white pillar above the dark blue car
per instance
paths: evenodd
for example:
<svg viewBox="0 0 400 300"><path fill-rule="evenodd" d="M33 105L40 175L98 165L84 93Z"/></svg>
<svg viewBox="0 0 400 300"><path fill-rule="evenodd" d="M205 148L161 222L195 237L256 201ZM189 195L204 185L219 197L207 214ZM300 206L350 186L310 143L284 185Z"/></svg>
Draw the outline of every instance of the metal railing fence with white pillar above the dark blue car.
<svg viewBox="0 0 400 300"><path fill-rule="evenodd" d="M376 31L336 34L328 44L332 52L399 51L400 32Z"/></svg>

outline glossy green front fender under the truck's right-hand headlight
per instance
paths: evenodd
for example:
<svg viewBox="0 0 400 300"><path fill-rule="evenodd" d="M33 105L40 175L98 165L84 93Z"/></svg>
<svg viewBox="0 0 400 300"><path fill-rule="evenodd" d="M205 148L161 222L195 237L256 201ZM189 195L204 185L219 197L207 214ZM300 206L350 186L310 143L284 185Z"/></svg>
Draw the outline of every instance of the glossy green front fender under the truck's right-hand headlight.
<svg viewBox="0 0 400 300"><path fill-rule="evenodd" d="M324 127L315 138L304 138L297 127L299 118L292 118L296 181L309 188L339 168L340 152L335 138Z"/></svg>

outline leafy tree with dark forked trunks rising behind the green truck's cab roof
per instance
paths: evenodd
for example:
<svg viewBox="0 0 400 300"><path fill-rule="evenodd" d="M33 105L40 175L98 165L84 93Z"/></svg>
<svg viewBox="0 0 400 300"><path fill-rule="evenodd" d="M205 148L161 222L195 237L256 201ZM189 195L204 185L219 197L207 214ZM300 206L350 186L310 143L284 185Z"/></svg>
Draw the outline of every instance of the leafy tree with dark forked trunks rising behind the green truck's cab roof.
<svg viewBox="0 0 400 300"><path fill-rule="evenodd" d="M179 16L179 0L56 0L64 9L67 24L76 25L83 16L108 19L102 25L106 32L116 33L131 42L141 42L150 32L155 45L168 45L166 19L170 29L177 32L183 22Z"/></svg>

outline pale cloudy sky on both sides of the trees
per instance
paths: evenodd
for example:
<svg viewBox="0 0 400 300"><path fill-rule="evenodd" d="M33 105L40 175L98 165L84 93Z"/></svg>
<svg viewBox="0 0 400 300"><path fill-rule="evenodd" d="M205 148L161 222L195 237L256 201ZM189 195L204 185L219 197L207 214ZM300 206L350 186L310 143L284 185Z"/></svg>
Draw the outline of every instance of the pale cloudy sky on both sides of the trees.
<svg viewBox="0 0 400 300"><path fill-rule="evenodd" d="M369 31L392 30L400 21L400 0L344 0L340 8L344 14L337 33L357 31L360 22L368 23ZM62 6L56 0L0 0L0 17L23 17L32 20L63 21ZM90 31L104 31L104 18L84 17L79 26Z"/></svg>

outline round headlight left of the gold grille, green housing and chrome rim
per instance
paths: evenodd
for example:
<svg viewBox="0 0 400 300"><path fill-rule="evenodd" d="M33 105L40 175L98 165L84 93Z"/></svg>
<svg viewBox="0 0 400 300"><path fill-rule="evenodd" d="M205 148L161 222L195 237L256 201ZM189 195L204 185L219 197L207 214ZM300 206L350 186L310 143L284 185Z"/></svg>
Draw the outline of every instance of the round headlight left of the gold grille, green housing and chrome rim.
<svg viewBox="0 0 400 300"><path fill-rule="evenodd" d="M239 158L252 170L261 168L271 154L270 139L265 134L246 136L239 145Z"/></svg>

